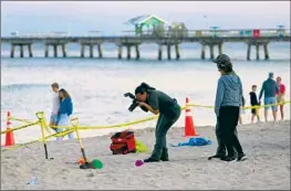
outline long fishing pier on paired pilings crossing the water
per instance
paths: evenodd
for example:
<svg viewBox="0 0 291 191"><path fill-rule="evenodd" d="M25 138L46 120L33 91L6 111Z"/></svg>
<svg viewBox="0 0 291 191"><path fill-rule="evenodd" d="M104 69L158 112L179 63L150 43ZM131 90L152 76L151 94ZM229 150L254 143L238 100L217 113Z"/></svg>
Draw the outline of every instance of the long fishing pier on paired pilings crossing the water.
<svg viewBox="0 0 291 191"><path fill-rule="evenodd" d="M231 42L240 42L247 44L247 60L251 60L251 47L254 47L256 60L260 60L260 47L263 47L264 60L269 60L268 44L271 42L287 42L290 43L290 30L278 31L278 29L264 30L196 30L187 31L186 34L173 34L167 32L164 35L155 34L154 32L143 33L136 35L134 32L126 32L119 36L4 36L1 38L1 44L10 44L10 57L15 56L15 47L20 50L20 57L24 57L24 47L28 50L29 57L33 57L32 45L34 43L42 43L44 45L44 57L49 57L49 46L53 47L53 57L60 56L58 46L61 46L61 56L67 57L66 44L80 44L80 57L85 57L85 47L89 47L89 57L94 57L95 50L97 57L102 59L102 45L112 43L116 45L117 59L141 59L141 44L152 43L157 44L157 59L163 60L163 47L166 47L167 59L172 60L172 49L175 49L176 55L174 59L181 59L180 44L183 43L199 43L201 45L200 59L206 59L206 49L209 50L210 59L215 55L215 47L218 53L224 52L224 44ZM126 55L124 56L123 50ZM135 55L132 55L132 49L135 50Z"/></svg>

